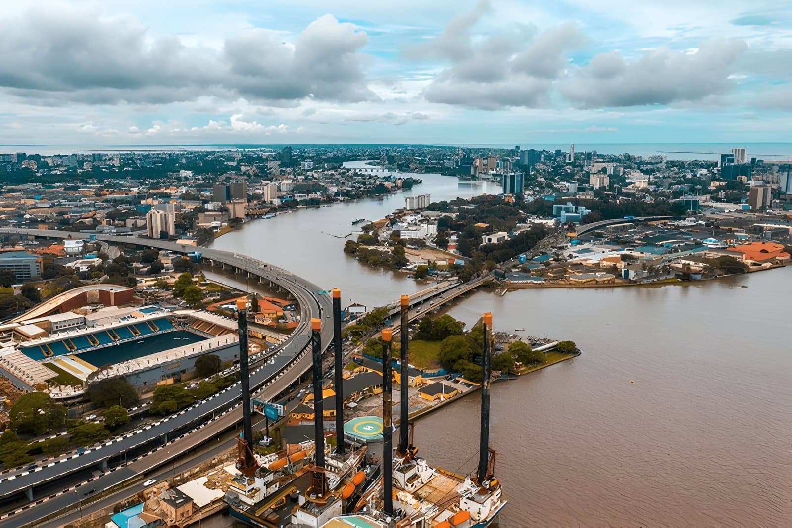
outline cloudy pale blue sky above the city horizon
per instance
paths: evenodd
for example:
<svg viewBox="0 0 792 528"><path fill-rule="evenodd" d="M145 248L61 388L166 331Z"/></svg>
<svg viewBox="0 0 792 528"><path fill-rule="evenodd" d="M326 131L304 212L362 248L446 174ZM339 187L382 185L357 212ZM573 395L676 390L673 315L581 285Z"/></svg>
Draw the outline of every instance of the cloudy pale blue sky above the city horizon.
<svg viewBox="0 0 792 528"><path fill-rule="evenodd" d="M773 142L792 5L0 2L0 144Z"/></svg>

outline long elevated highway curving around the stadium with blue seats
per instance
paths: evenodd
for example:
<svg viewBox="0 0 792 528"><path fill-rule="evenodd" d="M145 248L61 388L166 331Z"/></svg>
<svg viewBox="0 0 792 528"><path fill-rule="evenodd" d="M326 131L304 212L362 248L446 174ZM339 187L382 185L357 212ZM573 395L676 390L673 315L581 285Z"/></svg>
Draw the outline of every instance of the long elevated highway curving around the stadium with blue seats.
<svg viewBox="0 0 792 528"><path fill-rule="evenodd" d="M19 228L2 228L0 232L13 234L27 234L36 237L55 238L86 238L79 233L70 233L57 230L29 230ZM299 303L300 323L284 343L278 345L276 351L269 355L264 364L254 365L251 371L250 386L258 397L274 397L282 392L292 382L295 382L311 365L310 359L310 318L322 317L322 348L326 348L333 336L330 324L332 300L327 295L319 295L320 288L282 268L265 264L260 260L239 256L234 253L218 249L203 248L189 245L179 245L169 241L139 237L121 237L115 235L97 235L97 240L127 245L139 245L148 248L166 249L177 253L190 253L198 251L205 260L223 264L234 272L245 272L255 275L260 280L276 284L287 291ZM139 453L134 459L135 471L128 471L129 467L116 469L105 473L102 478L102 489L112 488L123 484L125 481L138 476L150 469L154 469L169 460L180 456L191 446L200 445L208 438L234 427L242 418L242 409L239 407L239 386L235 384L223 392L215 394L204 401L168 416L152 425L136 431L109 439L98 446L86 449L82 454L74 454L65 458L56 459L46 465L34 468L19 469L0 476L0 502L12 503L22 493L30 502L46 504L50 500L49 493L52 486L63 481L65 487L74 484L68 477L74 473L84 472L86 469L109 469L112 458L120 458L121 454L128 452ZM176 439L174 441L174 439ZM175 442L178 449L164 450L162 446ZM151 452L152 449L159 449ZM170 456L163 454L171 453ZM66 481L69 481L68 483ZM51 484L51 485L50 485ZM36 488L49 488L49 493L36 492ZM29 505L35 507L35 505ZM29 509L25 507L25 510ZM44 513L44 512L43 512ZM12 526L15 524L13 515L0 515L0 524Z"/></svg>

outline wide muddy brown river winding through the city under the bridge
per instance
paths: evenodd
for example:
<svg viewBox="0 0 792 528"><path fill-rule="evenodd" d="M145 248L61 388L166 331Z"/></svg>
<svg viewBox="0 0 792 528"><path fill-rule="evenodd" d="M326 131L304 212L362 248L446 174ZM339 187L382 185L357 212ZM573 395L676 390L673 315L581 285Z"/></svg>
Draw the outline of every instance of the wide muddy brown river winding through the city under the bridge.
<svg viewBox="0 0 792 528"><path fill-rule="evenodd" d="M497 192L420 175L432 201ZM215 241L369 307L421 289L346 256L354 218L404 196L255 220ZM335 235L335 236L333 236ZM740 288L739 286L746 286ZM470 294L468 325L575 341L580 357L493 386L501 526L792 526L792 267L660 288ZM633 380L633 383L630 383ZM478 394L417 424L433 465L470 472Z"/></svg>

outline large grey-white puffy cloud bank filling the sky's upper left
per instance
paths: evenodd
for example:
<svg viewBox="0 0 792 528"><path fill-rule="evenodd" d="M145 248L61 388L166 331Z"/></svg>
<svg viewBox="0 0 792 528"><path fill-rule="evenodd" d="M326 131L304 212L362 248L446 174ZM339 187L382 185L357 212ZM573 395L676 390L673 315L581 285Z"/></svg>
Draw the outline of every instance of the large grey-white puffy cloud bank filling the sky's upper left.
<svg viewBox="0 0 792 528"><path fill-rule="evenodd" d="M177 36L152 38L135 17L98 17L61 6L0 21L0 87L45 104L164 104L198 97L246 97L267 104L312 98L365 101L360 49L365 32L331 15L318 17L293 42L249 29L228 36L222 51L187 46Z"/></svg>

